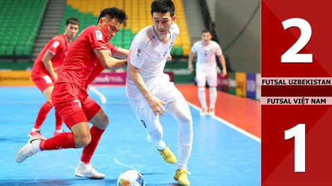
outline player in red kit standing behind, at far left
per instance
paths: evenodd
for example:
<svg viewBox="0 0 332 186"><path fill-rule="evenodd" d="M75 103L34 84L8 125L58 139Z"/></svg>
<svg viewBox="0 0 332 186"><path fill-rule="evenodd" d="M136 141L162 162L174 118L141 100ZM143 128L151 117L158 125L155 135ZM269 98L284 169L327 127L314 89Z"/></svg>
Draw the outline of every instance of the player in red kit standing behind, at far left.
<svg viewBox="0 0 332 186"><path fill-rule="evenodd" d="M71 44L71 40L76 36L78 32L80 22L78 19L71 17L66 20L66 26L64 28L64 34L59 34L53 39L50 39L44 46L43 50L39 52L37 59L31 70L31 78L35 85L46 97L46 102L40 108L35 125L29 132L28 136L36 136L45 140L46 138L40 133L40 127L45 121L45 118L53 107L50 100L50 94L52 93L54 83L57 80L57 71L59 66L64 61L64 55L66 53L68 45ZM58 112L55 112L55 132L53 136L62 132L62 118Z"/></svg>

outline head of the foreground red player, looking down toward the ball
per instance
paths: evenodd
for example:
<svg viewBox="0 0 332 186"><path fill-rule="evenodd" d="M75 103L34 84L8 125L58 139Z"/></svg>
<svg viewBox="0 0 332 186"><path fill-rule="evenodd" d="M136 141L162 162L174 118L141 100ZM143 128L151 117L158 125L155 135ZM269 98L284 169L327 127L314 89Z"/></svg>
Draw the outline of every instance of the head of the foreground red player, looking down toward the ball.
<svg viewBox="0 0 332 186"><path fill-rule="evenodd" d="M127 25L127 19L127 15L123 10L115 7L105 8L100 12L98 26L107 35L107 39L110 40L120 30L121 24Z"/></svg>

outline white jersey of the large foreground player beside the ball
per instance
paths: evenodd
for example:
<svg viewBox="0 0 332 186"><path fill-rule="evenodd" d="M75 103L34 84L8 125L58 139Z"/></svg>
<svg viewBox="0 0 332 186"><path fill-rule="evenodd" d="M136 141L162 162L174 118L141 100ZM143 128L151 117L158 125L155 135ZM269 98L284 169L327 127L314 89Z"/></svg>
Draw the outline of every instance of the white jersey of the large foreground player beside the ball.
<svg viewBox="0 0 332 186"><path fill-rule="evenodd" d="M163 70L167 56L180 32L178 25L173 23L169 32L171 39L168 43L163 44L154 32L153 26L147 26L136 34L130 46L128 63L140 68L140 76L152 93L158 83L169 81L169 76ZM126 90L127 96L131 99L137 99L141 95L129 75L127 75Z"/></svg>

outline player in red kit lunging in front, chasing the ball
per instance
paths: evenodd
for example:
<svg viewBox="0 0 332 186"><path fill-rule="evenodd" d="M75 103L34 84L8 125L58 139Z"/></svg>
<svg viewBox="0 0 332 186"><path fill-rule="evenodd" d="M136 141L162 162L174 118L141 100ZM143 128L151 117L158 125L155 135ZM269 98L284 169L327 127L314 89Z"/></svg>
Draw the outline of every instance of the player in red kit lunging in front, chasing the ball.
<svg viewBox="0 0 332 186"><path fill-rule="evenodd" d="M105 177L93 168L90 160L109 124L109 118L100 105L88 96L86 89L104 68L127 65L128 50L116 48L109 43L120 29L120 25L126 25L126 20L127 15L124 11L107 8L100 13L98 26L89 26L78 35L66 54L52 92L55 110L62 116L71 132L63 132L45 141L30 138L17 152L17 163L44 150L84 147L75 176ZM93 124L91 129L89 122Z"/></svg>

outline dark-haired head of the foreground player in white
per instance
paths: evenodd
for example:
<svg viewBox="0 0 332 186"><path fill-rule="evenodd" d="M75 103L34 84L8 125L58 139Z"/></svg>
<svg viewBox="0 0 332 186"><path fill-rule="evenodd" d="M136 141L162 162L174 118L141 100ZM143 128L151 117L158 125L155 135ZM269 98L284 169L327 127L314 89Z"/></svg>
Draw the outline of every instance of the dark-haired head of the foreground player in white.
<svg viewBox="0 0 332 186"><path fill-rule="evenodd" d="M175 7L170 0L156 0L151 4L151 16L157 34L165 35L175 21Z"/></svg>

